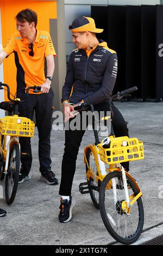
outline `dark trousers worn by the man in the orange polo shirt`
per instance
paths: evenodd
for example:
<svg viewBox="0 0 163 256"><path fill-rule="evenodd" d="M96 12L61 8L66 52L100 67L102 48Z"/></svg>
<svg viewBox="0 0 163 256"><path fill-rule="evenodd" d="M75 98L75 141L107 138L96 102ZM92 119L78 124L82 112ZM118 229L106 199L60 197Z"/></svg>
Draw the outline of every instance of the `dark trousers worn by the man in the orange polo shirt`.
<svg viewBox="0 0 163 256"><path fill-rule="evenodd" d="M24 99L24 93L18 92L17 97ZM21 117L33 120L35 111L36 125L39 132L39 162L40 172L51 168L51 130L53 113L53 91L43 94L29 94L25 102L20 104L19 112ZM20 137L22 174L28 175L32 166L32 150L30 138ZM25 153L25 154L22 154Z"/></svg>

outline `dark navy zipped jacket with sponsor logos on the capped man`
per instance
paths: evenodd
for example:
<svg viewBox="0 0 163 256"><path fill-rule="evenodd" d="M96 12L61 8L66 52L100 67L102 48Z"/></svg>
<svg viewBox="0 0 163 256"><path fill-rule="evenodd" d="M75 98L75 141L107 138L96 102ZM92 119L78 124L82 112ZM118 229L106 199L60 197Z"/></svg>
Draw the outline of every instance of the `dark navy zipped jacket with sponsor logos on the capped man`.
<svg viewBox="0 0 163 256"><path fill-rule="evenodd" d="M62 102L82 101L96 105L108 101L116 81L117 55L106 42L99 42L89 58L85 50L76 49L71 53L62 88Z"/></svg>

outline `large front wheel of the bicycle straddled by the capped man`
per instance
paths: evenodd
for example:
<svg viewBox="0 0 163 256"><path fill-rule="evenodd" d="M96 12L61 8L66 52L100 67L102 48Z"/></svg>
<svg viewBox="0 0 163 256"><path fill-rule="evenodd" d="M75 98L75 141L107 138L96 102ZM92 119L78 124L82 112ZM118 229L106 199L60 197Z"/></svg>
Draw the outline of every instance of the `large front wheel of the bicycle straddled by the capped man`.
<svg viewBox="0 0 163 256"><path fill-rule="evenodd" d="M127 216L122 210L122 201L125 200L123 184L121 187L116 185L116 193L113 194L111 186L112 179L117 180L116 182L121 182L121 184L123 183L121 172L112 172L106 175L99 191L99 209L103 223L109 234L118 242L130 245L139 238L143 229L144 211L142 199L141 197L137 199L135 204L131 206L129 216ZM133 193L135 195L139 193L138 188L129 177L127 177L127 184L129 185L129 196ZM117 203L115 203L115 199L112 198L115 194L116 199L118 199ZM136 213L138 213L138 216Z"/></svg>

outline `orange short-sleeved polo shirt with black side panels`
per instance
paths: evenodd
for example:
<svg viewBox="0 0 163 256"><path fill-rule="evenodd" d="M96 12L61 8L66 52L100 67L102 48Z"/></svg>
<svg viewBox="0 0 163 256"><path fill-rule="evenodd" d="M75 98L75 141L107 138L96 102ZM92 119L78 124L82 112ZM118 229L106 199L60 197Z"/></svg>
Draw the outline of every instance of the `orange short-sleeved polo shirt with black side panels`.
<svg viewBox="0 0 163 256"><path fill-rule="evenodd" d="M14 52L17 68L17 91L28 86L40 86L46 80L46 57L56 56L51 36L46 31L38 31L34 43L34 56L29 56L29 41L19 32L10 36L3 47L8 56ZM7 56L7 57L8 57ZM33 92L29 92L33 93Z"/></svg>

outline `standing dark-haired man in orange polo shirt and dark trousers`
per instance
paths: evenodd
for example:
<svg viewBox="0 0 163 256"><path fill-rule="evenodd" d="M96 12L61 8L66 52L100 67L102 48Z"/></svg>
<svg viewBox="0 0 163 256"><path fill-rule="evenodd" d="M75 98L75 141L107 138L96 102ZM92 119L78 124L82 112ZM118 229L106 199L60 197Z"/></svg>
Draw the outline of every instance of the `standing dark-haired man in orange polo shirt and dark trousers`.
<svg viewBox="0 0 163 256"><path fill-rule="evenodd" d="M39 161L41 181L49 185L58 184L51 170L51 144L53 91L51 88L54 73L54 56L56 56L51 36L46 31L38 31L37 14L31 9L21 10L16 15L18 32L10 36L0 53L0 64L11 53L15 54L17 68L17 97L26 96L29 86L41 86L41 92L29 92L27 101L20 106L20 115L33 119L35 110L36 124L39 132ZM21 173L19 183L30 180L32 151L30 138L20 138Z"/></svg>

